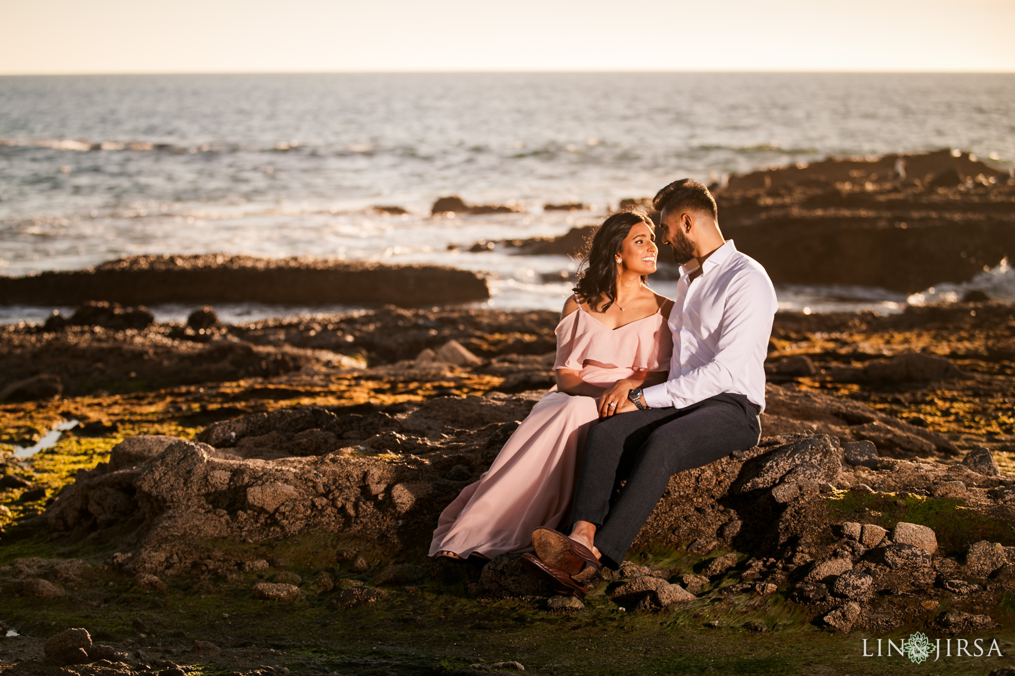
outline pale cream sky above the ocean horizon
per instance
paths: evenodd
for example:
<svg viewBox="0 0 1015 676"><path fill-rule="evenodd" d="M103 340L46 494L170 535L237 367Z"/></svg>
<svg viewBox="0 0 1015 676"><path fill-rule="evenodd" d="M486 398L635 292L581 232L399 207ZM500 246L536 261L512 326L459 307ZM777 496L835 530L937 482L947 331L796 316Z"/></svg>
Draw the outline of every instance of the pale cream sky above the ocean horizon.
<svg viewBox="0 0 1015 676"><path fill-rule="evenodd" d="M0 0L0 75L1015 72L1015 0Z"/></svg>

